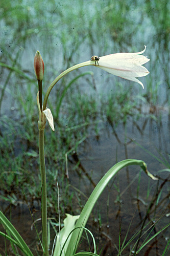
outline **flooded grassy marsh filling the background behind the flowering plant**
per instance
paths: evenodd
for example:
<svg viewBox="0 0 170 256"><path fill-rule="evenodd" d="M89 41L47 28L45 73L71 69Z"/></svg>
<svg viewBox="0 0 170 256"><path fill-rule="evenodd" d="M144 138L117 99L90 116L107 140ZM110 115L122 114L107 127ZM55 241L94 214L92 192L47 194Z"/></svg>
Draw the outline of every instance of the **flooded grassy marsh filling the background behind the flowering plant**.
<svg viewBox="0 0 170 256"><path fill-rule="evenodd" d="M45 64L43 93L62 71L92 55L138 52L146 45L144 55L151 59L145 65L150 74L141 78L144 90L95 67L71 72L53 88L48 107L55 132L48 126L45 133L50 249L58 230L57 182L62 222L66 213L80 214L101 177L123 159L143 160L158 181L133 166L109 183L88 222L98 254L135 255L168 225L169 9L165 0L1 1L1 210L34 255L42 255L28 210L41 233L37 50ZM169 239L165 229L138 255L168 255ZM19 255L4 238L0 241L0 253ZM80 249L84 246L93 249L86 238Z"/></svg>

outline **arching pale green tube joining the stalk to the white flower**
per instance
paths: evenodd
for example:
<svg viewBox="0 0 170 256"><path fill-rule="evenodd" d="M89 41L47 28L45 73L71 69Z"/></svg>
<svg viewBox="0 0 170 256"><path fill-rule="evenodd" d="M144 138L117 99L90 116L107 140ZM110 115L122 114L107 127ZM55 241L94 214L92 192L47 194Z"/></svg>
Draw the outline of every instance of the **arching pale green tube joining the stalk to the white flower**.
<svg viewBox="0 0 170 256"><path fill-rule="evenodd" d="M90 65L93 65L94 66L94 61L85 61L85 62L82 62L80 64L77 64L67 70L65 70L64 72L62 72L58 77L56 77L54 79L54 81L50 84L50 87L48 88L46 94L45 94L45 97L44 97L44 102L43 102L43 110L46 109L46 104L47 104L47 99L48 99L48 96L50 95L51 93L51 90L53 89L53 87L55 86L55 84L63 77L65 76L66 74L68 74L69 72L71 72L72 70L75 70L75 69L79 69L79 68L82 68L82 67L85 67L85 66L90 66Z"/></svg>

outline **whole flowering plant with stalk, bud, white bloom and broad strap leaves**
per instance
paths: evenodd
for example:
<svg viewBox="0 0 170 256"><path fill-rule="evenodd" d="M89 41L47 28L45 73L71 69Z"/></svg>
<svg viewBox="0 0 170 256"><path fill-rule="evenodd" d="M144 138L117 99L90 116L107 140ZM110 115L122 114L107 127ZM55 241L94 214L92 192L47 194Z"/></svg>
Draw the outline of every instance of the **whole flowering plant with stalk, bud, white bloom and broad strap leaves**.
<svg viewBox="0 0 170 256"><path fill-rule="evenodd" d="M54 81L48 87L43 103L42 103L42 80L44 75L44 62L37 51L34 58L34 70L38 81L38 93L37 93L37 104L39 112L38 129L39 129L39 160L40 160L40 173L41 173L41 223L42 223L42 249L43 255L49 255L49 248L47 243L47 193L46 193L46 173L45 173L45 158L44 158L44 129L46 124L46 119L48 120L52 130L54 131L54 121L50 109L47 109L47 100L55 84L67 73L82 68L85 66L95 66L96 68L101 68L111 74L125 78L127 80L135 81L143 84L136 77L142 77L149 74L149 71L142 65L149 61L149 59L142 55L145 51L137 53L116 53L110 54L103 57L98 57L96 55L92 56L90 60L79 63L57 76ZM152 179L156 178L150 174L147 170L147 165L141 160L127 159L118 162L113 167L111 167L105 176L100 180L98 185L92 191L87 203L85 204L80 216L73 217L68 216L64 220L64 228L61 229L57 236L57 243L55 246L53 255L97 255L94 247L94 253L92 252L81 252L76 253L77 245L79 243L81 234L85 228L86 222L90 216L93 206L100 197L102 191L112 179L112 177L123 167L129 165L139 165L142 170ZM13 225L7 220L7 218L0 212L0 219L3 225L6 227L7 234L1 232L2 236L10 240L12 244L17 245L20 250L25 253L25 255L33 255L30 248L26 245L23 239L20 237L19 233L13 227ZM76 222L77 220L77 222ZM14 238L12 239L11 236Z"/></svg>

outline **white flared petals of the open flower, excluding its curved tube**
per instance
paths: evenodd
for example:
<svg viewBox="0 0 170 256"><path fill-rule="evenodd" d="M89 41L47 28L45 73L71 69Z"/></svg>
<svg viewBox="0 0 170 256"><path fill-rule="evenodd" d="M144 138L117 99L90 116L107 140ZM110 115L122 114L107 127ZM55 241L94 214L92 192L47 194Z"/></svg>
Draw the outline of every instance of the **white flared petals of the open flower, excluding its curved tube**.
<svg viewBox="0 0 170 256"><path fill-rule="evenodd" d="M99 65L97 63L95 63L95 65L115 76L138 82L144 89L143 83L136 79L136 77L147 76L150 73L142 66L150 60L146 56L140 55L145 49L146 46L141 52L106 55L99 58Z"/></svg>

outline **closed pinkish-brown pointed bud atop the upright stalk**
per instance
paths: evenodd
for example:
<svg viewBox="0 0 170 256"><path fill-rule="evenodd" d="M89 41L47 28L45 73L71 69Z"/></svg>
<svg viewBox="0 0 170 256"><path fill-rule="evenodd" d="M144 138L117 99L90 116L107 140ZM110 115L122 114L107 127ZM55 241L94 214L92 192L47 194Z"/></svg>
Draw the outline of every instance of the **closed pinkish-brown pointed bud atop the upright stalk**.
<svg viewBox="0 0 170 256"><path fill-rule="evenodd" d="M44 76L44 62L39 51L34 57L34 71L38 81L42 81Z"/></svg>

